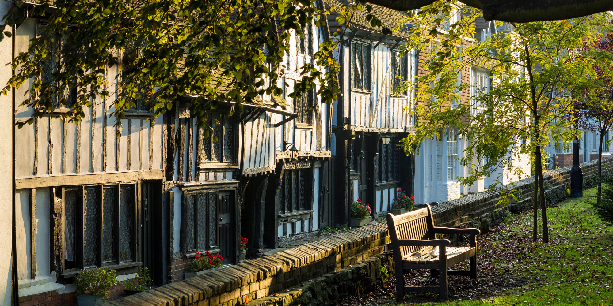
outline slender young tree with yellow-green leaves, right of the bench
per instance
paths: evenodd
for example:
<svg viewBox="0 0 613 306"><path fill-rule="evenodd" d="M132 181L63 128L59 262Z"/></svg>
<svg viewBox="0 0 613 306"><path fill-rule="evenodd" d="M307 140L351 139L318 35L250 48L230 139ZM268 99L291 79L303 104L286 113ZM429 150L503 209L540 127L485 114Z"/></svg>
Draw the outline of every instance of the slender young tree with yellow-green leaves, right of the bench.
<svg viewBox="0 0 613 306"><path fill-rule="evenodd" d="M602 16L508 24L511 31L463 46L461 51L456 33L438 35L442 48L427 59L430 71L413 82L418 99L427 103L416 108L419 126L405 139L406 151L416 152L441 127L457 129L457 135L469 140L460 160L472 169L468 177L459 178L466 185L501 169L521 177L525 174L515 161L531 155L539 184L543 241L548 242L542 148L551 140L570 140L577 134L562 118L573 110L575 92L594 83L577 78L585 75L591 59L576 61L581 55L569 50L593 42L599 26L606 26ZM451 103L465 86L458 85L459 69L473 64L492 72L491 89L477 88L470 101Z"/></svg>

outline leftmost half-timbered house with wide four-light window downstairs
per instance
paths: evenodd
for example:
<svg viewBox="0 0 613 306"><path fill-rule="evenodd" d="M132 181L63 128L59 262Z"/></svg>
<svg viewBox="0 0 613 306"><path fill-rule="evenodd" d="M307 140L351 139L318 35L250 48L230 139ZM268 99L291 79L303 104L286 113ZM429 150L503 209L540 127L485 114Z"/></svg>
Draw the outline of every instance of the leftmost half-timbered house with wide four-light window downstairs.
<svg viewBox="0 0 613 306"><path fill-rule="evenodd" d="M15 53L27 50L40 22L28 18L17 27ZM45 73L53 73L55 62L50 59ZM119 73L117 63L107 67L104 78L112 93L120 92ZM15 95L28 90L23 86ZM75 124L57 118L74 103L74 89L67 87L58 98L66 103L15 127L18 279L13 282L19 283L21 297L74 291L67 284L78 269L90 267L115 269L120 279L150 267L155 283L164 282L157 256L163 241L153 238L162 237L156 225L164 217L159 195L166 118L152 120L153 114L136 103L120 127L110 115L115 97L93 100ZM16 120L31 118L31 107L13 102Z"/></svg>

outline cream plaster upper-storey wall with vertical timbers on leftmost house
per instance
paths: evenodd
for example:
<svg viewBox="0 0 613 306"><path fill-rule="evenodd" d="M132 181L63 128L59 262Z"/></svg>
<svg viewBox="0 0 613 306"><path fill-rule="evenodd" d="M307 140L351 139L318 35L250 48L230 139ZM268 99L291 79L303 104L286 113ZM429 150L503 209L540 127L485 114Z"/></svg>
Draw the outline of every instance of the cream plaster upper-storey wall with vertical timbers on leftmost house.
<svg viewBox="0 0 613 306"><path fill-rule="evenodd" d="M28 18L16 31L15 52L26 51L29 40L36 34L36 19ZM6 61L10 62L10 38L2 41L7 43L7 47L2 48L3 54L7 56ZM2 69L4 69L2 65ZM10 76L10 67L6 67L7 75ZM115 75L118 68L109 67L107 81L110 82L109 90L113 93L115 89ZM6 83L6 81L4 81ZM2 83L2 84L4 84ZM31 118L32 109L18 106L26 91L31 88L29 83L23 84L15 92L17 113L15 118L23 121ZM7 103L10 105L10 95ZM112 105L114 97L109 101L103 102L101 99L94 101L92 108L85 110L85 117L80 124L80 146L77 147L77 124L61 122L59 118L45 116L36 119L34 124L25 125L15 131L15 151L18 152L16 160L17 179L29 177L40 177L49 175L63 174L91 174L116 171L137 171L137 170L161 170L164 159L163 142L163 115L156 119L153 129L149 130L150 122L147 119L131 119L131 129L128 129L129 119L123 119L121 137L115 137L115 118L110 116L113 111ZM104 127L104 114L106 111L107 125ZM95 114L95 116L93 116ZM95 121L95 122L93 122ZM63 129L66 128L66 139L63 136ZM93 128L93 129L92 129ZM38 139L35 143L35 131L38 131ZM51 130L51 133L49 131ZM131 147L128 147L128 135L131 135ZM153 160L150 165L150 135L153 140ZM106 136L107 147L103 146L104 136ZM51 138L51 139L49 139ZM50 146L50 143L53 145ZM63 147L66 144L66 160L63 159ZM119 146L117 146L119 144ZM37 153L37 164L34 165L34 153ZM120 152L117 151L120 148ZM142 153L140 152L142 150ZM77 152L80 152L80 163L77 171ZM131 165L128 167L127 157L131 152ZM49 157L51 154L51 169L49 169ZM104 155L106 155L106 168L104 169ZM93 159L92 159L93 157ZM140 160L142 157L142 160ZM118 166L116 166L118 164ZM142 166L142 168L140 168ZM34 169L36 168L36 174ZM64 171L64 168L66 171ZM129 169L128 169L129 168Z"/></svg>

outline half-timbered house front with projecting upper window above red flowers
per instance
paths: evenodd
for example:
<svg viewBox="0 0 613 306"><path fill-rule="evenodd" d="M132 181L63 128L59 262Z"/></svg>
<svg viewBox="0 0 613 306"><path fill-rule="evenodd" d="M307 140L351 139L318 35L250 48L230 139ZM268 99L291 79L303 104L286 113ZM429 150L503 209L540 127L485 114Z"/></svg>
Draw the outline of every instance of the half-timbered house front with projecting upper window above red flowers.
<svg viewBox="0 0 613 306"><path fill-rule="evenodd" d="M261 235L257 226L264 224L259 218L268 175L275 170L275 114L293 114L277 108L287 105L283 97L245 104L235 116L228 116L232 103L219 102L205 126L197 127L193 98L183 96L167 114L170 280L182 277L196 252L237 263L241 235L251 238L250 248L262 248L253 237Z"/></svg>

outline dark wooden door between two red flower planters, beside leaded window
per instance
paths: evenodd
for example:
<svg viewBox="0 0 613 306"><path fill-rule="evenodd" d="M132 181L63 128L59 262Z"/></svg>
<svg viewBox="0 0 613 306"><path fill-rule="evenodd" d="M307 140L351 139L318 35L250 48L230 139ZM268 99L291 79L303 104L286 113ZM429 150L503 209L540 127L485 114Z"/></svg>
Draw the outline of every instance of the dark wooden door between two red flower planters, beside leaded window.
<svg viewBox="0 0 613 306"><path fill-rule="evenodd" d="M217 202L217 212L219 219L218 234L219 249L223 256L223 264L234 264L236 258L236 234L235 226L237 224L235 218L235 198L234 192L221 191L219 192Z"/></svg>

